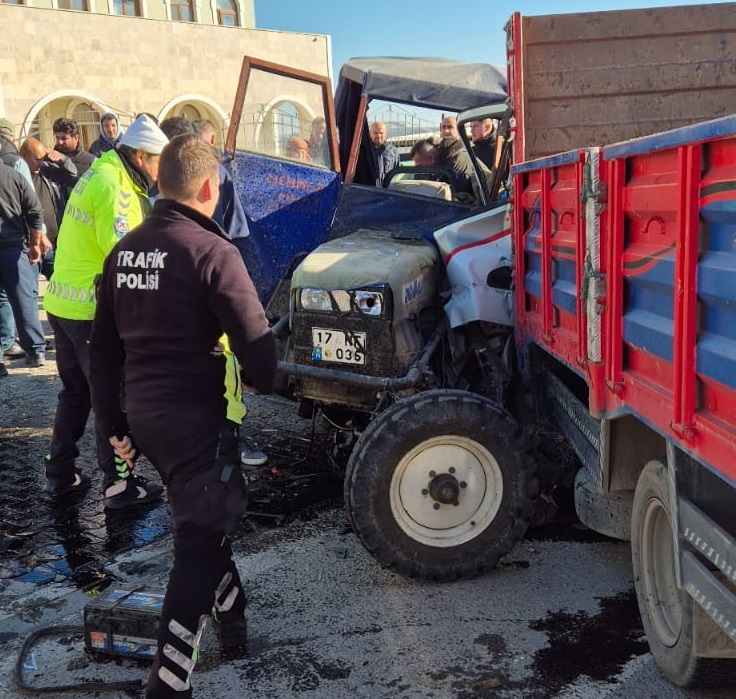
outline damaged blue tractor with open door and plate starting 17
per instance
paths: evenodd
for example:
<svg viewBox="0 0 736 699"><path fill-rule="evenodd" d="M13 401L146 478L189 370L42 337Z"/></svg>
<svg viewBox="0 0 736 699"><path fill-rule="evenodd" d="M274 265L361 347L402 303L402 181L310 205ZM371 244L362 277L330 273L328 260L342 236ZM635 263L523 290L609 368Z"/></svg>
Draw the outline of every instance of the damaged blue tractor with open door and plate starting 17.
<svg viewBox="0 0 736 699"><path fill-rule="evenodd" d="M259 89L286 91L288 81L290 94L298 84L323 98L326 165L290 158L288 132L248 110ZM368 105L410 93L440 115L470 108L458 127L473 197L456 196L436 168L400 167L375 185ZM335 114L319 76L247 59L238 94L230 166L252 221L248 267L281 348L279 392L331 426L350 521L383 565L433 580L492 568L524 535L538 492L529 440L508 409L516 372L503 76L452 61L351 61ZM465 135L476 119L496 124L490 171Z"/></svg>

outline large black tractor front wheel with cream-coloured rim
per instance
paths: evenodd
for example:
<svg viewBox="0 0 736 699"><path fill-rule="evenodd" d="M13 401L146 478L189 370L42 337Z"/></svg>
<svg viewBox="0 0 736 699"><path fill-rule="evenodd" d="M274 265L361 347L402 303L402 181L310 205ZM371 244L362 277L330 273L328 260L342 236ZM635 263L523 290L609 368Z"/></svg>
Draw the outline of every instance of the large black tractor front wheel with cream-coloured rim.
<svg viewBox="0 0 736 699"><path fill-rule="evenodd" d="M391 406L345 474L355 533L384 566L449 581L493 568L524 536L535 463L511 417L483 396L432 390Z"/></svg>

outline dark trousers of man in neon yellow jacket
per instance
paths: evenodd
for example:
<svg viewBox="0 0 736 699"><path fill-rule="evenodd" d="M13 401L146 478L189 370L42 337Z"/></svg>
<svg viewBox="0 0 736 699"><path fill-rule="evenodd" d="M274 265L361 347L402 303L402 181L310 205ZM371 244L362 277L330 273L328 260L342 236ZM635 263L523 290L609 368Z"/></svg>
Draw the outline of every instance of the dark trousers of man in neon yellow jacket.
<svg viewBox="0 0 736 699"><path fill-rule="evenodd" d="M89 395L89 335L91 320L67 320L47 313L54 330L56 368L62 389L54 418L54 432L46 464L50 478L72 478L74 461L79 456L77 442L87 426L92 403ZM115 468L115 452L107 435L94 427L97 463L104 474L103 488L118 478Z"/></svg>

